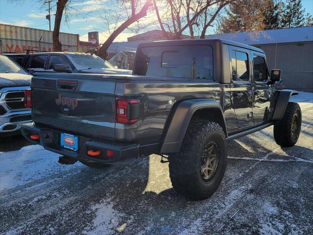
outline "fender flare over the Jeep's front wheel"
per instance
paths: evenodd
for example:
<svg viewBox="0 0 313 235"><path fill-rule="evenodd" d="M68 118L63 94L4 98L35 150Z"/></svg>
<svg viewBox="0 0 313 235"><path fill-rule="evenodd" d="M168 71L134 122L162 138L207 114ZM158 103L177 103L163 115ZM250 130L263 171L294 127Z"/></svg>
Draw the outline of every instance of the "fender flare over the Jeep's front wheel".
<svg viewBox="0 0 313 235"><path fill-rule="evenodd" d="M284 117L289 99L291 95L299 94L297 91L292 90L282 90L278 94L275 111L272 120L281 120Z"/></svg>

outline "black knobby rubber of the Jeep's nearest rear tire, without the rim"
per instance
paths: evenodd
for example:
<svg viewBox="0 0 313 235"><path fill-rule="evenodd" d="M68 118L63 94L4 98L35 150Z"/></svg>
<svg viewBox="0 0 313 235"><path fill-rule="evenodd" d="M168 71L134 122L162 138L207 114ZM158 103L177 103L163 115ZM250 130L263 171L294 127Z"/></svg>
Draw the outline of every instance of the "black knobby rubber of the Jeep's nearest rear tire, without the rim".
<svg viewBox="0 0 313 235"><path fill-rule="evenodd" d="M218 164L213 178L205 182L201 173L203 151L212 142L218 146ZM173 188L191 200L211 196L221 184L227 161L227 144L222 127L202 119L192 119L178 153L169 156Z"/></svg>

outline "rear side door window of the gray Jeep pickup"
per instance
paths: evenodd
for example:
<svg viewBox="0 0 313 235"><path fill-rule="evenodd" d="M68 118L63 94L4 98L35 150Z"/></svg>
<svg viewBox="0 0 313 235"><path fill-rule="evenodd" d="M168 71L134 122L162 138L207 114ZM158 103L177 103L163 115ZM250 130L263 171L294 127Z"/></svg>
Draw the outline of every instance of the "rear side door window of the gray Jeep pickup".
<svg viewBox="0 0 313 235"><path fill-rule="evenodd" d="M248 54L241 51L231 51L231 73L233 81L249 80Z"/></svg>

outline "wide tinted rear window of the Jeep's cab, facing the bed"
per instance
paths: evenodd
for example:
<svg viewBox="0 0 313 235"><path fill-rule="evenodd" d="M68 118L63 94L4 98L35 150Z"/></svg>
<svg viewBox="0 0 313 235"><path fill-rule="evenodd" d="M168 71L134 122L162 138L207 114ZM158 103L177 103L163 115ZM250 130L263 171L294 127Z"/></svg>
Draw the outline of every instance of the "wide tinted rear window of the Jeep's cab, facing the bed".
<svg viewBox="0 0 313 235"><path fill-rule="evenodd" d="M210 46L144 47L134 73L147 76L213 79Z"/></svg>

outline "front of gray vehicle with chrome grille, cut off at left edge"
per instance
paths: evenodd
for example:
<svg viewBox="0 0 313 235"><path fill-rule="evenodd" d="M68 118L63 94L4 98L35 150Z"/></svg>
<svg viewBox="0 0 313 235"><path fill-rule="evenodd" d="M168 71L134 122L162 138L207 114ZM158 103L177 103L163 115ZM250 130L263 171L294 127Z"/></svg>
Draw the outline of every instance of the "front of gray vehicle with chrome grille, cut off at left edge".
<svg viewBox="0 0 313 235"><path fill-rule="evenodd" d="M30 89L31 76L10 58L0 55L0 137L19 133L31 120L31 109L24 107L24 90Z"/></svg>

